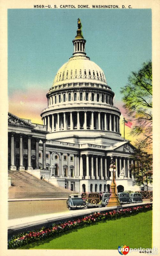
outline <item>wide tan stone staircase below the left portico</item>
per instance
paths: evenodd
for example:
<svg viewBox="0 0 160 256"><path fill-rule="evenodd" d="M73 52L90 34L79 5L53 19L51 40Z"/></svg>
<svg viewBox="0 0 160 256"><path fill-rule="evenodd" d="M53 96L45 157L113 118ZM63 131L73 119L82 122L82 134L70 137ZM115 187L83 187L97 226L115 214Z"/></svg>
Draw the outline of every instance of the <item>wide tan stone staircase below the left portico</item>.
<svg viewBox="0 0 160 256"><path fill-rule="evenodd" d="M8 189L8 198L66 198L75 192L56 187L46 180L39 180L25 171L8 171L11 177L11 187Z"/></svg>

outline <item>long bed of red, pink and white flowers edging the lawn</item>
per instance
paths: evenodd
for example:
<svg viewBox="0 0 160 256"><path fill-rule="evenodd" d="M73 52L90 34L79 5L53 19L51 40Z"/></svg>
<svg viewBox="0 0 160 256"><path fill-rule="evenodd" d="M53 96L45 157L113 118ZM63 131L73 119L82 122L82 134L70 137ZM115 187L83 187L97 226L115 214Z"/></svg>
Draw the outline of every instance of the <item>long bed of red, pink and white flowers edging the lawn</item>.
<svg viewBox="0 0 160 256"><path fill-rule="evenodd" d="M49 237L55 237L61 235L64 232L70 231L72 229L91 225L92 223L98 221L112 220L120 217L127 217L132 214L137 214L139 212L146 212L152 209L152 204L146 204L142 206L132 206L124 209L116 209L107 212L95 212L93 214L84 216L76 220L69 220L58 225L52 224L50 228L42 227L40 230L31 231L27 233L21 233L16 236L12 236L8 240L8 249L15 249L26 244L31 244L36 241L45 240Z"/></svg>

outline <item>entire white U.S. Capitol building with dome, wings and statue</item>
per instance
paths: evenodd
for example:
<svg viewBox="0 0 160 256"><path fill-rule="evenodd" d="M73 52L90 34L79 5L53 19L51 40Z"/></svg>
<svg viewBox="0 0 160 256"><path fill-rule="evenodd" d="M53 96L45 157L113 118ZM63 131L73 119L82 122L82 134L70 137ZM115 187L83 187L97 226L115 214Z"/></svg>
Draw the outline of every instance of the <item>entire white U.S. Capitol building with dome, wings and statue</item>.
<svg viewBox="0 0 160 256"><path fill-rule="evenodd" d="M120 134L120 110L103 70L85 53L81 23L73 56L58 71L41 112L43 125L8 114L8 169L28 170L76 192L108 191L111 157L118 191L137 190L134 147Z"/></svg>

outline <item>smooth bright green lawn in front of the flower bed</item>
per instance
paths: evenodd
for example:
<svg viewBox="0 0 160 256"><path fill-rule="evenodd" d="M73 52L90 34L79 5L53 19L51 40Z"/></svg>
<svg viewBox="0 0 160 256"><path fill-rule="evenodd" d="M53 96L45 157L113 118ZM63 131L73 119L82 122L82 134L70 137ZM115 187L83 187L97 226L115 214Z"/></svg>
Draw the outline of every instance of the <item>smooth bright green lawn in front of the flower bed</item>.
<svg viewBox="0 0 160 256"><path fill-rule="evenodd" d="M99 222L19 249L116 250L121 244L130 248L152 248L152 211Z"/></svg>

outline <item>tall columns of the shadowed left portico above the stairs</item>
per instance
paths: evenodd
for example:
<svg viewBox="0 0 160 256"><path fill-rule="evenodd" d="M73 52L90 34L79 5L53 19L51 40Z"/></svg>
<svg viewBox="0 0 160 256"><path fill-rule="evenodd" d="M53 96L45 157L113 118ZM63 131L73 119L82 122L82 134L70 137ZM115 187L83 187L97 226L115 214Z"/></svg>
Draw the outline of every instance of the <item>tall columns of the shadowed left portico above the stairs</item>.
<svg viewBox="0 0 160 256"><path fill-rule="evenodd" d="M15 149L14 149L14 138L15 138L16 132L11 132L11 167L10 170L16 170L15 165ZM23 137L25 134L18 133L19 135L19 168L18 170L25 170L25 167L23 165ZM28 167L27 170L33 170L33 167L31 165L31 138L32 135L27 135L28 138ZM39 169L39 138L36 139L36 169ZM46 139L41 139L43 142L43 169L46 169Z"/></svg>

